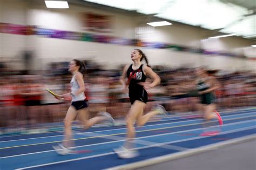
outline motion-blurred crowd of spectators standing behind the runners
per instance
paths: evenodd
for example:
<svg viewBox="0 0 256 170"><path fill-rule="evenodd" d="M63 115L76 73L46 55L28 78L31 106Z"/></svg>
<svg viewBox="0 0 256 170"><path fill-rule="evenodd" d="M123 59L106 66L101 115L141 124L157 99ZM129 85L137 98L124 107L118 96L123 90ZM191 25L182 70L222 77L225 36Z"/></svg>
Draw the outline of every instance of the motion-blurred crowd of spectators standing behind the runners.
<svg viewBox="0 0 256 170"><path fill-rule="evenodd" d="M62 121L70 106L70 101L57 100L45 89L57 94L69 92L71 74L68 62L51 63L48 70L29 72L11 71L1 66L0 76L0 127L24 127L38 123ZM100 65L85 61L85 95L89 101L90 116L98 111L107 111L114 118L123 118L130 108L129 96L122 91L119 77L120 66L116 70L104 70ZM194 68L153 66L161 78L160 86L148 91L149 103L165 106L170 114L197 111L197 96L193 91L196 82ZM219 109L248 107L256 105L256 74L252 71L212 70L221 87L215 91ZM149 80L150 81L150 80Z"/></svg>

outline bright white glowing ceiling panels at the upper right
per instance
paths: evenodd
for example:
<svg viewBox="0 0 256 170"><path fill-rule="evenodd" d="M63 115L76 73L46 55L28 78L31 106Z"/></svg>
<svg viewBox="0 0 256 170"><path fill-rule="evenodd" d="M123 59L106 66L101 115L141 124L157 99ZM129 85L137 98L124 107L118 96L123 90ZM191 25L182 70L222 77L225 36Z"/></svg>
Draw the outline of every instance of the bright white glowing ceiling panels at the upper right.
<svg viewBox="0 0 256 170"><path fill-rule="evenodd" d="M256 38L256 0L82 0L221 33Z"/></svg>

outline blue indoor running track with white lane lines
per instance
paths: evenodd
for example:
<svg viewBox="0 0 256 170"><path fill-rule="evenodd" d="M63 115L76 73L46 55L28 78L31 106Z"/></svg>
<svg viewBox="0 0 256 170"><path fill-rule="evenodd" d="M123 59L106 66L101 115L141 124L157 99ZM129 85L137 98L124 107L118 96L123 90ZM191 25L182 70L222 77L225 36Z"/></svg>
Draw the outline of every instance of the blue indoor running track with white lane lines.
<svg viewBox="0 0 256 170"><path fill-rule="evenodd" d="M0 169L107 169L131 164L163 155L186 152L199 147L218 144L256 133L256 109L220 112L224 120L221 133L202 137L199 118L163 118L136 127L136 148L140 155L132 159L118 159L113 152L125 140L125 126L94 127L73 131L79 152L58 155L52 146L63 139L63 132L11 135L0 137Z"/></svg>

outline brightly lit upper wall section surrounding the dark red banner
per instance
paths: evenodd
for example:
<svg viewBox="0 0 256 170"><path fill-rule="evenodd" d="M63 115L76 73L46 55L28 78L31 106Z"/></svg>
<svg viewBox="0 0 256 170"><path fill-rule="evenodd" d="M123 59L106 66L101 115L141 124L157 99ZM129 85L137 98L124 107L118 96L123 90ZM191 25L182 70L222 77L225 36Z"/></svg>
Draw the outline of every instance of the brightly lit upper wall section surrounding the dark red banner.
<svg viewBox="0 0 256 170"><path fill-rule="evenodd" d="M134 38L134 26L136 23L133 22L130 16L104 12L100 9L85 8L79 5L69 4L69 7L69 9L48 9L45 5L30 5L28 23L47 29L85 32L82 13L92 12L99 15L112 16L113 32L102 33L103 35Z"/></svg>

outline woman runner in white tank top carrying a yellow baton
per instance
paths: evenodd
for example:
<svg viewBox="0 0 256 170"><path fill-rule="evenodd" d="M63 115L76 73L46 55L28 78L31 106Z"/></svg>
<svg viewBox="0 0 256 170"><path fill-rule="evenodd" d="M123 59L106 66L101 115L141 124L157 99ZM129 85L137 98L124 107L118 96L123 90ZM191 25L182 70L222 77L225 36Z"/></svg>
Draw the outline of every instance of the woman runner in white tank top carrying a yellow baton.
<svg viewBox="0 0 256 170"><path fill-rule="evenodd" d="M72 97L72 103L69 107L68 112L66 113L65 117L65 132L64 132L64 140L62 144L58 144L57 146L53 146L55 151L58 154L66 155L66 154L73 154L77 153L70 149L70 147L74 146L74 142L72 139L72 122L76 119L77 114L79 114L79 118L82 121L85 128L90 128L91 126L107 120L113 123L113 118L107 112L100 112L96 115L96 117L87 120L87 114L89 114L89 109L87 102L85 101L84 95L84 72L85 66L84 63L80 60L73 59L69 64L69 71L73 74L73 77L70 81L71 83L71 92L66 93L60 96L56 96L57 99L65 99L70 100Z"/></svg>

